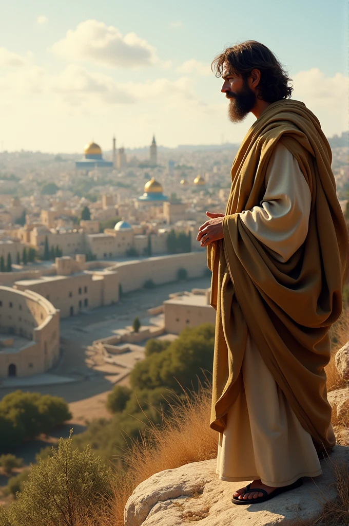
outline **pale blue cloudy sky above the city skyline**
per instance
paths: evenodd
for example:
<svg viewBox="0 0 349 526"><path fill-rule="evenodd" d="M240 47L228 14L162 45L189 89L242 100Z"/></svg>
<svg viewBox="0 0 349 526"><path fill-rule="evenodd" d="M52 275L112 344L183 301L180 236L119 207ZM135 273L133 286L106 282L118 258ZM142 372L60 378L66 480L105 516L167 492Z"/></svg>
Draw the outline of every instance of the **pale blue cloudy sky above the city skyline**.
<svg viewBox="0 0 349 526"><path fill-rule="evenodd" d="M327 136L348 129L345 0L12 0L0 18L0 151L240 143L215 55L253 39Z"/></svg>

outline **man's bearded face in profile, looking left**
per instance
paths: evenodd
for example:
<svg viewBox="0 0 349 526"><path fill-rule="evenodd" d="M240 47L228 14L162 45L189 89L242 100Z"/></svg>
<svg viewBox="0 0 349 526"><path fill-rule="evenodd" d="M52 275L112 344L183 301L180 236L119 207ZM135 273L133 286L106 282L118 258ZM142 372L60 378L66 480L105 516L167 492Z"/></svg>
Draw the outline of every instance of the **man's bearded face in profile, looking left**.
<svg viewBox="0 0 349 526"><path fill-rule="evenodd" d="M232 123L241 122L253 109L256 103L256 94L250 88L247 78L234 75L224 70L224 80L221 92L230 99L228 116Z"/></svg>

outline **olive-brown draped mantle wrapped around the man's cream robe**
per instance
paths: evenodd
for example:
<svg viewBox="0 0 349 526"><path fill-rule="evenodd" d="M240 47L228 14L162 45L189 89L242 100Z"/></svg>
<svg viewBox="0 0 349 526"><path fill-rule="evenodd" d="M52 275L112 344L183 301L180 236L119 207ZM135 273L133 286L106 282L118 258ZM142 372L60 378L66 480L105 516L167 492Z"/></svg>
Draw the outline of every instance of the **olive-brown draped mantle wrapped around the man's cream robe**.
<svg viewBox="0 0 349 526"><path fill-rule="evenodd" d="M240 214L260 206L277 144L298 161L312 201L303 244L286 261L263 245ZM269 105L234 159L224 239L208 246L211 305L217 310L210 426L222 432L241 388L248 333L316 451L334 446L324 367L328 331L340 316L348 236L319 120L296 100Z"/></svg>

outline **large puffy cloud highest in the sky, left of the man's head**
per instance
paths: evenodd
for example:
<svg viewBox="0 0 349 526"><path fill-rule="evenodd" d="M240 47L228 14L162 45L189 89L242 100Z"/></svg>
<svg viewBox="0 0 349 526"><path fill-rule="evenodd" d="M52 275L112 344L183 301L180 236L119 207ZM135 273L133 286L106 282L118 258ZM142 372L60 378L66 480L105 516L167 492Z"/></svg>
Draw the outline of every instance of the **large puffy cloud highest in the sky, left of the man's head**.
<svg viewBox="0 0 349 526"><path fill-rule="evenodd" d="M158 61L156 50L136 33L125 36L114 26L96 20L81 22L52 50L73 60L88 60L110 67L150 66Z"/></svg>

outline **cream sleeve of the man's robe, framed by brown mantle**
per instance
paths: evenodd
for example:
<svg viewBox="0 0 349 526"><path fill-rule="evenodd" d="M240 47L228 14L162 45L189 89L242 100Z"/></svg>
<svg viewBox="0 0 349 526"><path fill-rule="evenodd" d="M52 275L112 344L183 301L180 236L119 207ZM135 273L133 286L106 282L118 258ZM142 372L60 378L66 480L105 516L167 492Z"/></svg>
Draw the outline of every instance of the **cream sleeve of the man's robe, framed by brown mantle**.
<svg viewBox="0 0 349 526"><path fill-rule="evenodd" d="M286 262L303 244L309 224L311 193L298 161L281 143L269 159L260 206L240 218L275 259Z"/></svg>

